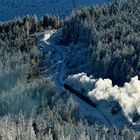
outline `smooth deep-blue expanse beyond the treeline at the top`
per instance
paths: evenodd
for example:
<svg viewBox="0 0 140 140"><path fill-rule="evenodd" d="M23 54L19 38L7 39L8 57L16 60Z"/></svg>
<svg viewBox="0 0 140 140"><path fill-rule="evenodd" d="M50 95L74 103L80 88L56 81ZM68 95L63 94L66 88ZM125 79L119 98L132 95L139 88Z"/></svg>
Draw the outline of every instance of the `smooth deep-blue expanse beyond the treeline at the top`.
<svg viewBox="0 0 140 140"><path fill-rule="evenodd" d="M11 20L25 15L42 17L49 13L61 18L68 16L80 6L92 6L115 0L0 0L0 21Z"/></svg>

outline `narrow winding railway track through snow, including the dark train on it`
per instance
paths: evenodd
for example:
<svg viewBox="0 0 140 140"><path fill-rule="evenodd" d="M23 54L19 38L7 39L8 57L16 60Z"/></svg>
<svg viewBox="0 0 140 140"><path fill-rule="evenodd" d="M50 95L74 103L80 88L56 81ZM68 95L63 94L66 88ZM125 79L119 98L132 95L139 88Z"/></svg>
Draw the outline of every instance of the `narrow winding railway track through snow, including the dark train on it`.
<svg viewBox="0 0 140 140"><path fill-rule="evenodd" d="M89 98L85 97L84 95L80 94L77 90L75 90L74 88L72 88L70 85L68 85L67 83L64 83L63 77L64 77L64 54L63 52L59 49L60 46L58 46L57 44L51 44L48 43L47 41L40 41L41 45L45 48L45 47L50 47L49 51L55 50L56 53L58 53L59 55L59 59L58 61L61 61L61 63L59 63L58 65L58 73L57 73L57 77L56 77L56 82L59 85L59 87L64 88L65 90L69 91L71 94L74 94L76 97L78 97L80 100L82 100L83 102L85 102L86 104L88 104L89 106L91 106L93 109L95 109L106 121L106 123L108 124L109 127L112 127L112 123L109 120L109 118L96 106L95 103L93 103ZM49 45L48 45L49 44Z"/></svg>

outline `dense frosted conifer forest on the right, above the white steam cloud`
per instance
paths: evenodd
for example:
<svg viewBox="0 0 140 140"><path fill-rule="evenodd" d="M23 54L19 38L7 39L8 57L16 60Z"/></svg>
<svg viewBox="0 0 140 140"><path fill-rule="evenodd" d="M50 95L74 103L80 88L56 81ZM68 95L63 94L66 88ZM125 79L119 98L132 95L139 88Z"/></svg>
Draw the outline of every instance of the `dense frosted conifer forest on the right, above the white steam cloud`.
<svg viewBox="0 0 140 140"><path fill-rule="evenodd" d="M140 3L84 7L65 21L63 42L86 42L96 77L123 85L140 77Z"/></svg>

